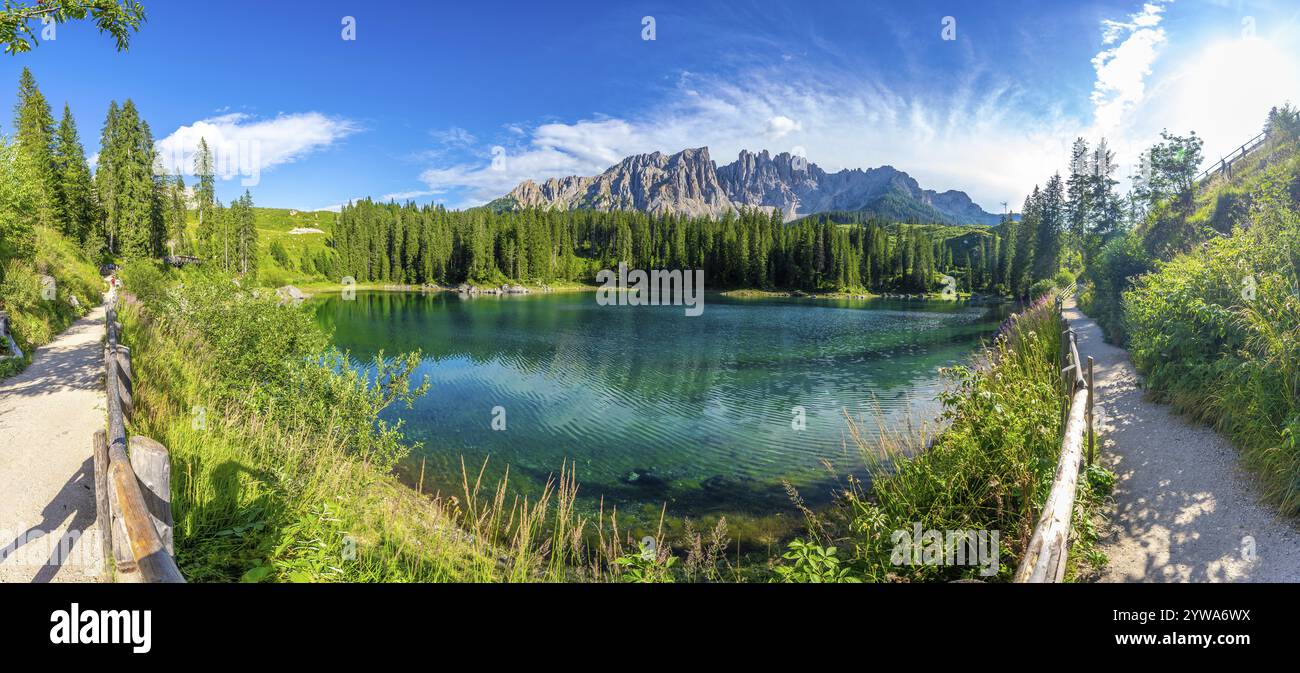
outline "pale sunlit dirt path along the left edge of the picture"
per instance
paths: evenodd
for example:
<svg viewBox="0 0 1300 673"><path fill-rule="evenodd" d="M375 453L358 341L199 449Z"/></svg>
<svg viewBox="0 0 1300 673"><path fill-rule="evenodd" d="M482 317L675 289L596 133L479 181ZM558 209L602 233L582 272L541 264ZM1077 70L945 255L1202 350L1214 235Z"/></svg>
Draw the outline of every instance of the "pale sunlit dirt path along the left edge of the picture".
<svg viewBox="0 0 1300 673"><path fill-rule="evenodd" d="M0 381L0 581L96 582L91 435L104 426L104 307Z"/></svg>

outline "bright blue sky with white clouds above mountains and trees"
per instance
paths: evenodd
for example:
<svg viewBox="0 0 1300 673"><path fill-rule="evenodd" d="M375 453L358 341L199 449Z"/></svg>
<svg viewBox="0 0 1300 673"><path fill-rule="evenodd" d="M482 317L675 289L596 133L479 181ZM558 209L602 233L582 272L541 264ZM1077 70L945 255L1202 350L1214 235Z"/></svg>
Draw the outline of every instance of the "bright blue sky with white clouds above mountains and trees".
<svg viewBox="0 0 1300 673"><path fill-rule="evenodd" d="M1127 174L1161 127L1217 157L1300 103L1290 1L144 5L129 52L68 25L0 57L0 105L30 66L94 155L108 101L131 97L166 162L204 136L231 166L218 196L269 207L467 207L708 146L719 164L742 148L889 164L1014 209L1076 135L1105 136Z"/></svg>

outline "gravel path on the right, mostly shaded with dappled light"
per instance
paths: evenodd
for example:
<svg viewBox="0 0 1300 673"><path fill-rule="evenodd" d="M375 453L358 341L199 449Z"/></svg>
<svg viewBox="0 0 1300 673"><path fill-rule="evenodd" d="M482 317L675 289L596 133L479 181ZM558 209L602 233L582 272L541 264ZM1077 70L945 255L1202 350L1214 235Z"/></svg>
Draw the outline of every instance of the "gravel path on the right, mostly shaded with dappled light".
<svg viewBox="0 0 1300 673"><path fill-rule="evenodd" d="M1232 444L1147 400L1128 353L1076 308L1065 317L1096 359L1101 456L1119 477L1101 581L1300 582L1300 531L1258 502Z"/></svg>

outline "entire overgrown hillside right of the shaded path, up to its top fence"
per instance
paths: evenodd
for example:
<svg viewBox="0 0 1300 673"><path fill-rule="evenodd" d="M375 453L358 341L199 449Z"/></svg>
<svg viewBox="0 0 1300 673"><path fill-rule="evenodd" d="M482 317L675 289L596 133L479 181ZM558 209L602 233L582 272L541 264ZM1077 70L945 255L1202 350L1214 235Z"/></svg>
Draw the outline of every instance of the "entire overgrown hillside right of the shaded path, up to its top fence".
<svg viewBox="0 0 1300 673"><path fill-rule="evenodd" d="M1156 398L1226 433L1287 514L1300 514L1296 131L1108 243L1083 298Z"/></svg>

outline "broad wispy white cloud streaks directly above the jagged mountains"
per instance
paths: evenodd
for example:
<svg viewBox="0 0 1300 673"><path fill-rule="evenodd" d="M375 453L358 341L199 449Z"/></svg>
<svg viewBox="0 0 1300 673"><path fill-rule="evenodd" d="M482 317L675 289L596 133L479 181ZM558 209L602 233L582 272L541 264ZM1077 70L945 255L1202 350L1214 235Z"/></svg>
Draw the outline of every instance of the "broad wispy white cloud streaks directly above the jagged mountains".
<svg viewBox="0 0 1300 673"><path fill-rule="evenodd" d="M599 174L629 155L707 146L715 162L727 164L741 149L798 147L826 170L890 164L926 188L963 190L985 210L1000 212L1001 201L1018 203L1063 165L1078 125L1031 120L1020 114L1015 90L985 88L945 104L874 82L686 75L641 118L543 123L526 129L495 162L484 152L430 168L420 179L430 190L462 190L455 205L468 207L524 179ZM798 134L797 143L790 134Z"/></svg>

